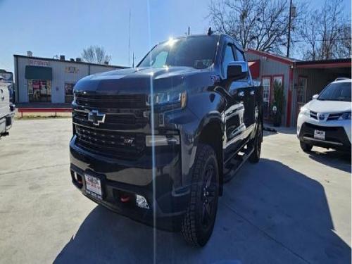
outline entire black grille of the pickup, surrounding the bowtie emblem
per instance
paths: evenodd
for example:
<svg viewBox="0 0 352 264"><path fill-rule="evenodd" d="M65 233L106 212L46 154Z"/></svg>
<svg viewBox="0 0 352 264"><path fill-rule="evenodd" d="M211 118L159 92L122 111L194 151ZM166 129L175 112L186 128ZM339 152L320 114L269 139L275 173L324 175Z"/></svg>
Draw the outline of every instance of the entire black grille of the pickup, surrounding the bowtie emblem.
<svg viewBox="0 0 352 264"><path fill-rule="evenodd" d="M73 123L76 144L100 156L137 159L145 146L143 128L146 96L143 94L76 94ZM89 112L105 114L104 122L94 125Z"/></svg>

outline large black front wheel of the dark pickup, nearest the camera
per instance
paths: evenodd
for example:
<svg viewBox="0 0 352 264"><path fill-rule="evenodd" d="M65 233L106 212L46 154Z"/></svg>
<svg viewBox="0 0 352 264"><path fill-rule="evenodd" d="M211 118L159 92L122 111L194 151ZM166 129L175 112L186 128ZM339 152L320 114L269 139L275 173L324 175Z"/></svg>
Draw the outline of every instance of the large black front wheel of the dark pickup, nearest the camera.
<svg viewBox="0 0 352 264"><path fill-rule="evenodd" d="M182 236L194 246L204 246L212 232L218 210L219 174L215 151L200 144L192 175L191 194L182 221Z"/></svg>

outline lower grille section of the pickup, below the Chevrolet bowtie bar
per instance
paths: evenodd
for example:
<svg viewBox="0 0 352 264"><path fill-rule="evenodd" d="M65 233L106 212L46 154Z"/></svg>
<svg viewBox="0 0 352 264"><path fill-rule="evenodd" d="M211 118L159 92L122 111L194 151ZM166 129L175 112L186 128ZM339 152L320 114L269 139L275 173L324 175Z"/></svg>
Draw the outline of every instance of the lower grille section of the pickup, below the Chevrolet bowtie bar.
<svg viewBox="0 0 352 264"><path fill-rule="evenodd" d="M82 125L76 125L75 133L78 146L99 153L101 156L135 159L142 155L144 151L145 139L143 134L126 134Z"/></svg>

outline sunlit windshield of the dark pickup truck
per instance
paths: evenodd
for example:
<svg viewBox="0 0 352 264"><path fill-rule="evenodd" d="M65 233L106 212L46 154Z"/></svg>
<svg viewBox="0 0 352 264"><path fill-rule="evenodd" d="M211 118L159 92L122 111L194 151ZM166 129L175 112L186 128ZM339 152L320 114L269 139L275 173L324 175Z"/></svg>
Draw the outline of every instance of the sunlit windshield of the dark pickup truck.
<svg viewBox="0 0 352 264"><path fill-rule="evenodd" d="M155 46L138 67L187 66L205 69L213 64L218 36L170 39Z"/></svg>

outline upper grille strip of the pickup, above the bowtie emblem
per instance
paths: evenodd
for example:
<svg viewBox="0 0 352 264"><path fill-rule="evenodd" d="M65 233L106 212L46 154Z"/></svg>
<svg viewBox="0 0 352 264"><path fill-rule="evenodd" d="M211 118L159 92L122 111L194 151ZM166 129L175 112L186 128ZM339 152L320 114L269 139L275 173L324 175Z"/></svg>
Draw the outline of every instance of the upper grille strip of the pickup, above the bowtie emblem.
<svg viewBox="0 0 352 264"><path fill-rule="evenodd" d="M145 94L76 94L79 106L92 108L146 108Z"/></svg>

